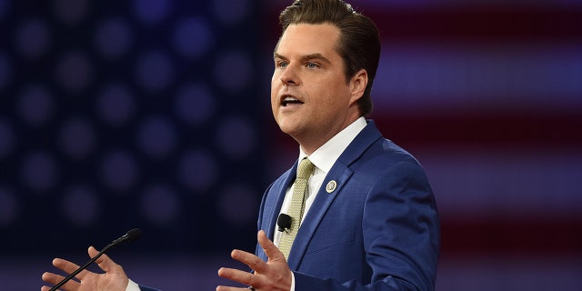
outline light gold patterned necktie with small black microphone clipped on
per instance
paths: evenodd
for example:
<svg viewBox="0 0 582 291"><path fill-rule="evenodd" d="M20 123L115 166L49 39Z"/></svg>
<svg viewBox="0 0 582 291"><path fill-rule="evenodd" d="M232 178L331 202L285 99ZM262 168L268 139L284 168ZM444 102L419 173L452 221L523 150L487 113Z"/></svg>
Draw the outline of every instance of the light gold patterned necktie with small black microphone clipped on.
<svg viewBox="0 0 582 291"><path fill-rule="evenodd" d="M304 158L299 163L297 177L293 184L291 205L288 211L288 215L291 216L291 228L289 231L283 232L279 242L279 250L285 255L285 258L289 256L289 251L291 251L291 246L293 246L293 241L301 225L301 217L303 217L303 211L306 207L307 181L309 181L309 176L311 176L315 167L307 158Z"/></svg>

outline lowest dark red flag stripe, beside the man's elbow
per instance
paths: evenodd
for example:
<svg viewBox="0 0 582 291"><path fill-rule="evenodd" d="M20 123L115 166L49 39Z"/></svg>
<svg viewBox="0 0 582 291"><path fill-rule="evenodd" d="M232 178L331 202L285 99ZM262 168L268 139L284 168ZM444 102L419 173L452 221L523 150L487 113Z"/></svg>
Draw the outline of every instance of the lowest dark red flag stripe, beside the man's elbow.
<svg viewBox="0 0 582 291"><path fill-rule="evenodd" d="M446 256L582 253L582 216L442 218L441 245Z"/></svg>

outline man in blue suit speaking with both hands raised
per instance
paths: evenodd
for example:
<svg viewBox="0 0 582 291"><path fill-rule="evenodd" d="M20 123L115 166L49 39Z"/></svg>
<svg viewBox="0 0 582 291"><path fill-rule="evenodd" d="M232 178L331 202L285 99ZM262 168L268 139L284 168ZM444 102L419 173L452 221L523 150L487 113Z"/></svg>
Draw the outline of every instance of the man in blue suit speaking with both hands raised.
<svg viewBox="0 0 582 291"><path fill-rule="evenodd" d="M439 226L424 170L365 119L380 55L376 25L342 0L297 0L280 21L271 105L299 159L266 190L256 255L231 253L253 272L218 275L260 291L434 290ZM290 222L277 226L286 215ZM107 256L97 263L104 275L82 272L66 290L137 287Z"/></svg>

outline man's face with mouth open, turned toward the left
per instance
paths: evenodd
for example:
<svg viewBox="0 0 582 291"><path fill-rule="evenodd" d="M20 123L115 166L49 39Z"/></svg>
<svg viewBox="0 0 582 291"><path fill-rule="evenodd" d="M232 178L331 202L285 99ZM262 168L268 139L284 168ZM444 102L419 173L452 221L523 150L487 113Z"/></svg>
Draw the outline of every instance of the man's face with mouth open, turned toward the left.
<svg viewBox="0 0 582 291"><path fill-rule="evenodd" d="M308 155L359 117L360 82L346 81L338 37L334 25L289 25L274 54L273 115Z"/></svg>

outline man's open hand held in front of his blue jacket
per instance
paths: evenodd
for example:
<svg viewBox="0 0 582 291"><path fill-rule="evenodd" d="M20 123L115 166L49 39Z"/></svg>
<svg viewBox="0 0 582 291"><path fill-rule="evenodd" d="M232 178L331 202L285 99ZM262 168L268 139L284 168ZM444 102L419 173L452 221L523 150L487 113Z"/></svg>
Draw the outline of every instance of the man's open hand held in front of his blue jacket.
<svg viewBox="0 0 582 291"><path fill-rule="evenodd" d="M265 250L268 261L263 261L260 257L253 254L234 250L230 256L237 261L250 266L255 273L247 271L222 267L218 270L218 276L226 279L236 281L246 286L253 286L255 290L281 290L289 291L291 289L291 270L287 265L285 256L273 244L273 242L266 237L264 231L259 231L256 235L258 243ZM235 291L248 290L247 288L236 288L228 286L217 286L216 291Z"/></svg>

